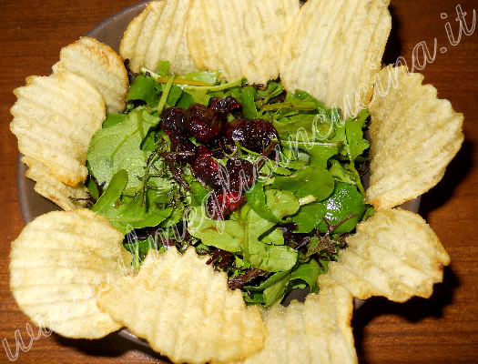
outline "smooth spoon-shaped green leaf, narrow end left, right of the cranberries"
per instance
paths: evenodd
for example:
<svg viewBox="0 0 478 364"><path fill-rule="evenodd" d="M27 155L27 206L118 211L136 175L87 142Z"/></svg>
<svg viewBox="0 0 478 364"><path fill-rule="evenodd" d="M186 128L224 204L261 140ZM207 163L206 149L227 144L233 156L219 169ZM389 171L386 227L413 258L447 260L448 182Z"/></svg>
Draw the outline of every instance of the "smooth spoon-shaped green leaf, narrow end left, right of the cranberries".
<svg viewBox="0 0 478 364"><path fill-rule="evenodd" d="M327 169L309 166L290 177L275 177L272 187L290 191L298 198L312 195L320 201L331 195L334 183Z"/></svg>

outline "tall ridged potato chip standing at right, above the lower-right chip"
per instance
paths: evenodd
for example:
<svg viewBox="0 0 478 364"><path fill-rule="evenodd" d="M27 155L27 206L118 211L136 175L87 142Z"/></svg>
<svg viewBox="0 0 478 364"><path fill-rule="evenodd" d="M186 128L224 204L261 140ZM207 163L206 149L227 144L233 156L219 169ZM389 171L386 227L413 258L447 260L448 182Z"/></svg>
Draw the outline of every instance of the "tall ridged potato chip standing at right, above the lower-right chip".
<svg viewBox="0 0 478 364"><path fill-rule="evenodd" d="M435 186L463 143L463 114L406 66L379 73L371 104L371 179L366 199L390 208Z"/></svg>

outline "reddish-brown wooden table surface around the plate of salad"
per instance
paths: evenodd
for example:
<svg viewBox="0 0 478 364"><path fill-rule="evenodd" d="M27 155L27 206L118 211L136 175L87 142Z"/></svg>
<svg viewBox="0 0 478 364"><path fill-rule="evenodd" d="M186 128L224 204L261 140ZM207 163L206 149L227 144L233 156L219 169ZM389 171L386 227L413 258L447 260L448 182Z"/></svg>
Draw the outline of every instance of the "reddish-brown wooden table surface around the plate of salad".
<svg viewBox="0 0 478 364"><path fill-rule="evenodd" d="M5 348L11 350L11 359L22 363L158 360L117 334L93 341L38 335L8 287L10 243L25 225L16 189L16 138L9 131L9 108L15 103L12 91L25 84L26 76L48 75L61 47L132 4L133 0L0 1L0 340L4 344L0 362L9 360ZM432 298L413 298L405 304L374 298L355 313L352 324L361 363L478 362L478 30L473 23L477 5L473 0L397 0L391 5L392 46L385 61L403 56L409 66L422 68L425 82L436 86L438 95L464 114L465 140L440 184L422 197L420 210L450 253L452 264ZM467 14L459 21L457 6ZM428 62L424 45L430 53ZM17 347L20 336L24 350Z"/></svg>

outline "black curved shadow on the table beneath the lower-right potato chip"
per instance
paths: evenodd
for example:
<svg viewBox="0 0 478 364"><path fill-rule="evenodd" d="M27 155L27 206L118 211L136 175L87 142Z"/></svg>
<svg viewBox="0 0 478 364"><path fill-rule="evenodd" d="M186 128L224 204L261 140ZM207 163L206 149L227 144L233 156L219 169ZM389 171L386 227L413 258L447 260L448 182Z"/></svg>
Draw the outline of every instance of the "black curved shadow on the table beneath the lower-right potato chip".
<svg viewBox="0 0 478 364"><path fill-rule="evenodd" d="M396 315L412 322L425 318L441 318L442 309L453 302L453 290L459 286L459 280L451 267L443 270L442 283L436 284L431 298L411 298L398 303L387 298L369 298L353 314L351 326L355 339L355 348L361 364L367 363L367 353L363 349L364 329L371 320L381 315Z"/></svg>

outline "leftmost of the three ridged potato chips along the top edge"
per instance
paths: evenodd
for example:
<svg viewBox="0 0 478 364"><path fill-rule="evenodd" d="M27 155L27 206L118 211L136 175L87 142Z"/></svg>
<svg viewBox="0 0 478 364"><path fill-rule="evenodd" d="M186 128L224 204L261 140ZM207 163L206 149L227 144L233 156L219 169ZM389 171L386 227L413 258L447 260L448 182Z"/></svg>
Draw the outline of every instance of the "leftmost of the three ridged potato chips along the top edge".
<svg viewBox="0 0 478 364"><path fill-rule="evenodd" d="M156 72L159 61L169 61L169 71L177 74L197 70L186 43L190 5L191 0L152 1L133 19L119 47L131 70L145 66Z"/></svg>

